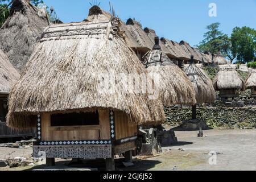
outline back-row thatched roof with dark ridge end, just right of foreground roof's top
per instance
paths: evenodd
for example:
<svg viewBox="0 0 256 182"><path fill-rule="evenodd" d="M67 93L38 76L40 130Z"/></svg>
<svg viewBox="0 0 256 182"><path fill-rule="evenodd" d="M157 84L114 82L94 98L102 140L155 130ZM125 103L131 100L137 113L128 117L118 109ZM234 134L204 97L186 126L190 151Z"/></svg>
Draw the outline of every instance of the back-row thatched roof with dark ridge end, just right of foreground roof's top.
<svg viewBox="0 0 256 182"><path fill-rule="evenodd" d="M142 49L147 52L154 46L152 40L147 36L146 32L144 32L141 23L129 18L126 22L126 29L129 31L129 34L133 36L133 39L135 39L137 44L139 45L139 47L135 48Z"/></svg>

